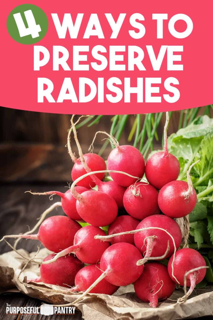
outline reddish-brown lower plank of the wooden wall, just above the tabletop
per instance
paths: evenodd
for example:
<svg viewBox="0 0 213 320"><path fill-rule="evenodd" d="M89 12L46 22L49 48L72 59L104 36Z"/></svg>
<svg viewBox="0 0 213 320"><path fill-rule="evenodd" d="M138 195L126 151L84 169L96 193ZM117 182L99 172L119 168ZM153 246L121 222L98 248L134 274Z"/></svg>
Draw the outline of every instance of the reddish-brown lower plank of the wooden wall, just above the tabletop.
<svg viewBox="0 0 213 320"><path fill-rule="evenodd" d="M98 153L97 145L94 152ZM82 146L87 153L88 146ZM107 159L111 148L105 149ZM77 153L77 149L73 148ZM71 182L73 162L65 146L52 144L0 144L0 180L2 182Z"/></svg>

